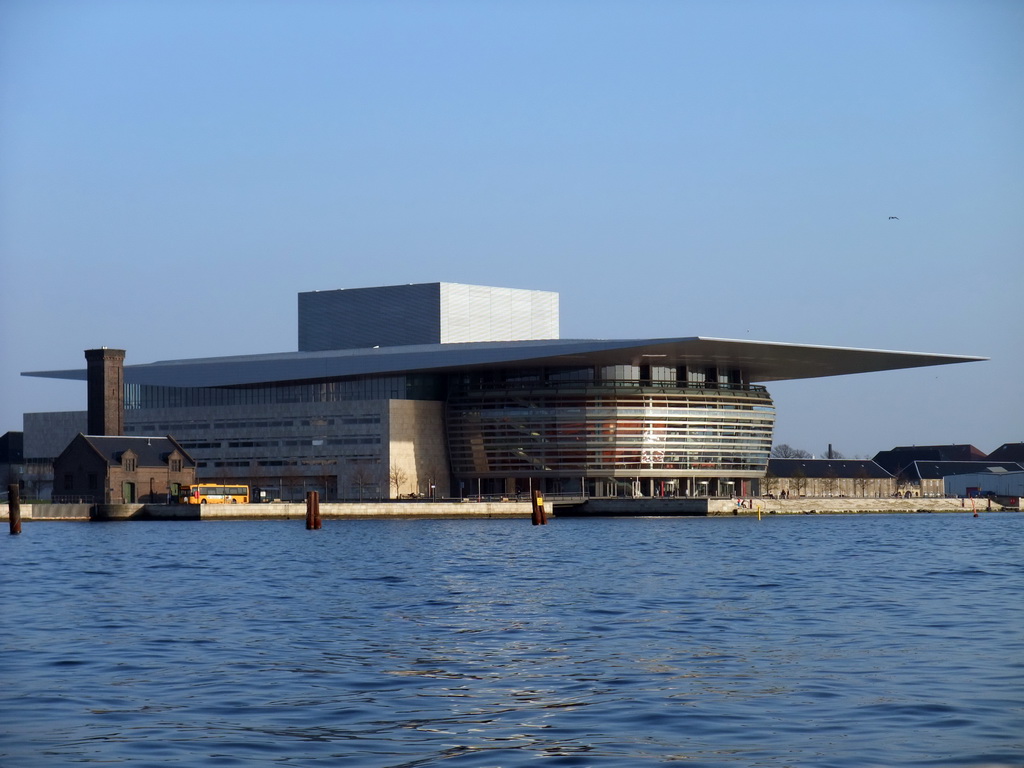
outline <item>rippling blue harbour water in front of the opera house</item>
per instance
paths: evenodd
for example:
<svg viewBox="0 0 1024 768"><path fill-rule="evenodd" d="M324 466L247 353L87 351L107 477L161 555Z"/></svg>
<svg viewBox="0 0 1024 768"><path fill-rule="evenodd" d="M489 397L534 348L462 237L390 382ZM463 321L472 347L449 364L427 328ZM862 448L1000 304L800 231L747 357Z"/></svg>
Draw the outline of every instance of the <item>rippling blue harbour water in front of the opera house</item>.
<svg viewBox="0 0 1024 768"><path fill-rule="evenodd" d="M0 765L1021 766L1024 515L27 523Z"/></svg>

